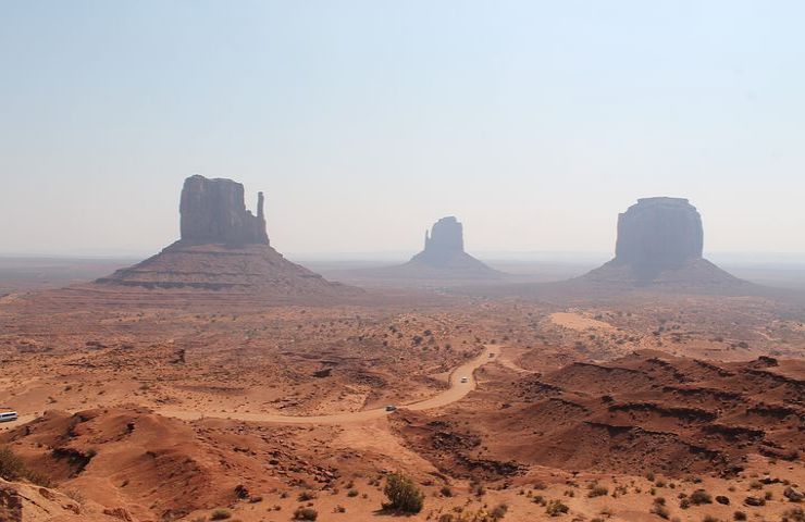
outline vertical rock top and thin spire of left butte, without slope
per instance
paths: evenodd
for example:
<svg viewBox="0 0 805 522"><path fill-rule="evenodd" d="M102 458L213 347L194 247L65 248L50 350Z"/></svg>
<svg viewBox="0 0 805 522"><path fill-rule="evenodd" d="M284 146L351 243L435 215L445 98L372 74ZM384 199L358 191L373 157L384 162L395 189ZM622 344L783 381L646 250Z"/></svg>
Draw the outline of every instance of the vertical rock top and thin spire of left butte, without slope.
<svg viewBox="0 0 805 522"><path fill-rule="evenodd" d="M232 179L208 179L198 174L185 179L179 203L182 243L205 245L269 245L263 194L257 215L246 210L244 186Z"/></svg>

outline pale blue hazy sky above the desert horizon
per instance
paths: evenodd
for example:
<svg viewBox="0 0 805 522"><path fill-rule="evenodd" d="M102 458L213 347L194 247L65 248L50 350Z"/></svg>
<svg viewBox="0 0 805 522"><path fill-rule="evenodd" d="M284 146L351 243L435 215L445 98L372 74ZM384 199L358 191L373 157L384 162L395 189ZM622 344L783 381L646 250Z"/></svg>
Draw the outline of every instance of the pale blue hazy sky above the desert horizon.
<svg viewBox="0 0 805 522"><path fill-rule="evenodd" d="M193 174L297 254L610 252L685 197L705 251L805 253L805 2L3 1L0 253L150 253Z"/></svg>

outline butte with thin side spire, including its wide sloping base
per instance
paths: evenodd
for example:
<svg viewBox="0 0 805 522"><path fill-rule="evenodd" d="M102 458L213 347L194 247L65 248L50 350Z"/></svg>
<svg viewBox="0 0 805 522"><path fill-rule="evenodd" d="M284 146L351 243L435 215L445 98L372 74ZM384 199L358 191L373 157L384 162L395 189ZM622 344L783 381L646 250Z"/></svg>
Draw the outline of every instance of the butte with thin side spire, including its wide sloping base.
<svg viewBox="0 0 805 522"><path fill-rule="evenodd" d="M97 283L277 298L356 291L292 263L274 250L265 232L263 203L263 194L259 192L255 215L246 209L242 184L190 176L182 188L181 239Z"/></svg>

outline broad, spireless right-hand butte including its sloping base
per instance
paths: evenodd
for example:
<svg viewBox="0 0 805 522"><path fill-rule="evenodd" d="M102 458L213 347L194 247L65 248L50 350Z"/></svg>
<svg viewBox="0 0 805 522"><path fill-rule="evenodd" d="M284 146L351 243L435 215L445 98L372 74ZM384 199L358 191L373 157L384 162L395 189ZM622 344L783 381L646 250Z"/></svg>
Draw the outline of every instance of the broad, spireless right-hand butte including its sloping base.
<svg viewBox="0 0 805 522"><path fill-rule="evenodd" d="M743 282L702 257L704 228L682 198L642 198L618 215L615 259L586 281L635 286L733 286Z"/></svg>

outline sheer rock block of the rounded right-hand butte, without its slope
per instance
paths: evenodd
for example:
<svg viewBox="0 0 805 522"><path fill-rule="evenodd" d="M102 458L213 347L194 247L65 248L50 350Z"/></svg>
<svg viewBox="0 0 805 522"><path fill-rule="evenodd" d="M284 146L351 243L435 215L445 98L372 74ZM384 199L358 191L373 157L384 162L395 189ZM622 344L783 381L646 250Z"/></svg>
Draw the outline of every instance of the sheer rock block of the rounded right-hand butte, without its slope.
<svg viewBox="0 0 805 522"><path fill-rule="evenodd" d="M616 264L680 266L702 259L702 216L683 198L642 198L618 215Z"/></svg>

